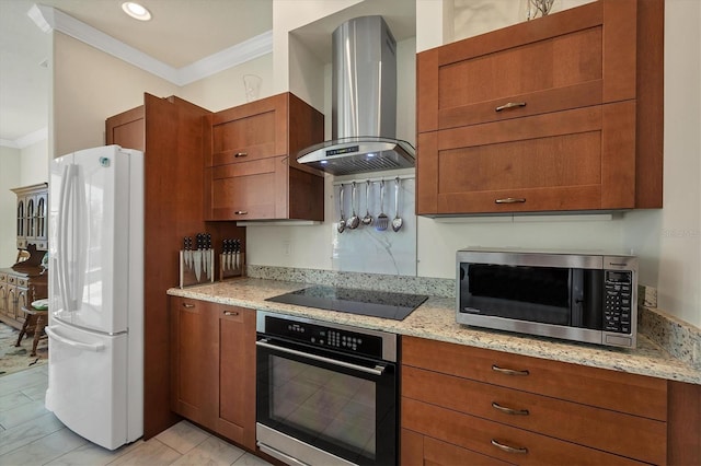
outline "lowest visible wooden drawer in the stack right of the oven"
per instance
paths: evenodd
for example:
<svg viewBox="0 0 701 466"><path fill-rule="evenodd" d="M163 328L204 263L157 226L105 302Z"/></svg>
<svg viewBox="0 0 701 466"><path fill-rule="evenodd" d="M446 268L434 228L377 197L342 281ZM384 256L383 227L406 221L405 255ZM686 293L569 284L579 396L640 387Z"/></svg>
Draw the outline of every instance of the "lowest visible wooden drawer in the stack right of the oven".
<svg viewBox="0 0 701 466"><path fill-rule="evenodd" d="M402 428L519 465L632 465L630 458L402 397Z"/></svg>

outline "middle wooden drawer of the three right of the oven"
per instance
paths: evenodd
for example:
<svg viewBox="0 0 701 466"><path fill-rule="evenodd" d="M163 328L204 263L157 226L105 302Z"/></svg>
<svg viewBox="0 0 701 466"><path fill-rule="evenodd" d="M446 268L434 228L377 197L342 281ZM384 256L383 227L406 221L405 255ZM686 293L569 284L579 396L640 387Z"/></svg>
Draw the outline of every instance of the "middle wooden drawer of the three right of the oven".
<svg viewBox="0 0 701 466"><path fill-rule="evenodd" d="M664 421L409 366L402 396L642 462L666 459Z"/></svg>

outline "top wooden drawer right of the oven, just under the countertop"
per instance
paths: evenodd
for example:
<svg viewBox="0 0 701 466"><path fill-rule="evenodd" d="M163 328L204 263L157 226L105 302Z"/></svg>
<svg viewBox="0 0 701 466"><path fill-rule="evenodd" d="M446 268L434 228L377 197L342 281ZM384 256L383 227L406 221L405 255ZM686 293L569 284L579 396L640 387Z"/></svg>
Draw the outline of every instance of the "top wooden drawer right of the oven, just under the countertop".
<svg viewBox="0 0 701 466"><path fill-rule="evenodd" d="M667 420L667 383L662 378L415 337L402 339L402 364Z"/></svg>

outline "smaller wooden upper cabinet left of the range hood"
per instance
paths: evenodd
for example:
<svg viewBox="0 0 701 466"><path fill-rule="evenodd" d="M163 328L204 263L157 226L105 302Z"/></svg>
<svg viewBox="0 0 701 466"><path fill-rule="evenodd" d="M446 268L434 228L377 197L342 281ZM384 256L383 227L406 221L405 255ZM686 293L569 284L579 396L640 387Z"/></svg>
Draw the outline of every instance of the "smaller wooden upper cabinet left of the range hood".
<svg viewBox="0 0 701 466"><path fill-rule="evenodd" d="M297 153L323 141L323 115L290 93L209 117L207 220L323 220L323 175Z"/></svg>

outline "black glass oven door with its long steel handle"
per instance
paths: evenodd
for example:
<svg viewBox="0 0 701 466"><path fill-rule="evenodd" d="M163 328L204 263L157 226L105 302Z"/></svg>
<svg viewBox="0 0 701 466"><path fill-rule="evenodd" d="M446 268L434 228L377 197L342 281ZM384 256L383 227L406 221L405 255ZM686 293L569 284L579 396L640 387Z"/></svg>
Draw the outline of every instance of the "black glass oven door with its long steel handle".
<svg viewBox="0 0 701 466"><path fill-rule="evenodd" d="M395 464L394 364L260 340L257 422L354 464Z"/></svg>

